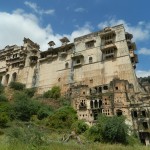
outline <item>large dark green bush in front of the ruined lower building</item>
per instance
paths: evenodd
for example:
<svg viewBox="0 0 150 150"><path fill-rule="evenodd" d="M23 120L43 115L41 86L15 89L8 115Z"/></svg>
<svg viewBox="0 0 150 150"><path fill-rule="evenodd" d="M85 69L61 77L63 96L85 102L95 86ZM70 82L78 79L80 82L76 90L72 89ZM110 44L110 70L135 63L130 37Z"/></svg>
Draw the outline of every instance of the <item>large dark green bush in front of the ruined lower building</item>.
<svg viewBox="0 0 150 150"><path fill-rule="evenodd" d="M124 117L100 115L88 134L93 141L127 144L128 126Z"/></svg>

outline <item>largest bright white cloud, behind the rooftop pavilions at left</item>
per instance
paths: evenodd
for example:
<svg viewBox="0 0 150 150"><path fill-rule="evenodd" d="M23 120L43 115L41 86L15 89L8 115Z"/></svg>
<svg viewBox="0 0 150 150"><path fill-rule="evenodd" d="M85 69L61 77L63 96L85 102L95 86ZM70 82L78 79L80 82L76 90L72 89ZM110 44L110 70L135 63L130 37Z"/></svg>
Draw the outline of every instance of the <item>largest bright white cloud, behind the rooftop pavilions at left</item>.
<svg viewBox="0 0 150 150"><path fill-rule="evenodd" d="M0 49L7 45L23 45L23 38L26 37L38 43L41 50L46 50L49 41L54 41L56 46L60 46L59 39L63 36L67 36L70 41L73 41L75 37L90 33L91 29L89 23L86 23L70 35L60 35L53 32L50 24L45 28L41 27L39 18L33 14L25 13L21 9L17 9L11 14L0 12Z"/></svg>

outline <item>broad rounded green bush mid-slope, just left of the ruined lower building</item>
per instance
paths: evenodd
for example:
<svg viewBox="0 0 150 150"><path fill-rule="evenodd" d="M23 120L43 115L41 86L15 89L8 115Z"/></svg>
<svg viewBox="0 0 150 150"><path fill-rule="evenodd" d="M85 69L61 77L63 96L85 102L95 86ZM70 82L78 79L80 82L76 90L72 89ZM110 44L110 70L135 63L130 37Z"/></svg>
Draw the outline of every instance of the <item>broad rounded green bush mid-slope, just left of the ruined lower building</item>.
<svg viewBox="0 0 150 150"><path fill-rule="evenodd" d="M70 129L75 121L76 111L72 107L62 107L49 116L48 124L55 129Z"/></svg>

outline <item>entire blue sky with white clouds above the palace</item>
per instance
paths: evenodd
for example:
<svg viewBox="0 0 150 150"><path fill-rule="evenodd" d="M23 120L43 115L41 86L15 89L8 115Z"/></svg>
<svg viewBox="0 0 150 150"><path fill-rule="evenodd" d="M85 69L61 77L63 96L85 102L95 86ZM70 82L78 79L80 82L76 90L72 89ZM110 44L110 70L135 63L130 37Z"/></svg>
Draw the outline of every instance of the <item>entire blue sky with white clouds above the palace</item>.
<svg viewBox="0 0 150 150"><path fill-rule="evenodd" d="M139 56L137 75L150 75L150 0L0 0L0 49L30 38L47 43L124 24Z"/></svg>

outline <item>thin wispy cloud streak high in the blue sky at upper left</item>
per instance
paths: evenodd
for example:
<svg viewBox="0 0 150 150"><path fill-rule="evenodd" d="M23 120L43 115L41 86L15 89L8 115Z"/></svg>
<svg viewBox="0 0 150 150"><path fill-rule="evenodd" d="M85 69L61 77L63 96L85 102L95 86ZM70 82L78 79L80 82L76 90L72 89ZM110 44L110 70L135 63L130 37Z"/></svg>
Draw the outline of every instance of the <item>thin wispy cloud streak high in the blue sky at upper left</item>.
<svg viewBox="0 0 150 150"><path fill-rule="evenodd" d="M55 12L54 9L48 9L48 10L41 9L36 3L32 3L29 1L25 1L24 4L30 7L31 9L33 9L34 12L40 15L42 14L52 15Z"/></svg>

